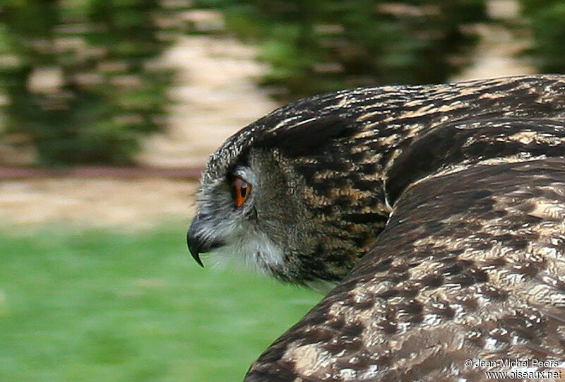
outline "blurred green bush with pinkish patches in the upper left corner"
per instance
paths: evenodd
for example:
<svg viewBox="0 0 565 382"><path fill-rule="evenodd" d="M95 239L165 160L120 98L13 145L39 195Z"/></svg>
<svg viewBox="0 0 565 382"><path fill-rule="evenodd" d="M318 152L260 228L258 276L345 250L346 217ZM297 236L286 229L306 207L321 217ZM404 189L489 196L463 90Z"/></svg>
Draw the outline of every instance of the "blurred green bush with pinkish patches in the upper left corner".
<svg viewBox="0 0 565 382"><path fill-rule="evenodd" d="M168 102L172 73L154 61L175 10L161 3L2 0L4 136L32 142L47 165L131 162Z"/></svg>

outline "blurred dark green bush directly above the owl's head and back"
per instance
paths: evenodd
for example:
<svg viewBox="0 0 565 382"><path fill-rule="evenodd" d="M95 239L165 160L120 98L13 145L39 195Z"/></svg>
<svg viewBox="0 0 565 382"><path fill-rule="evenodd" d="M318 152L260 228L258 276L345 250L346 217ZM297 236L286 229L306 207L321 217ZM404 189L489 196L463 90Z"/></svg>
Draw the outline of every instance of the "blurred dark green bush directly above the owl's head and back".
<svg viewBox="0 0 565 382"><path fill-rule="evenodd" d="M196 0L260 44L283 100L375 83L441 82L467 62L484 0Z"/></svg>

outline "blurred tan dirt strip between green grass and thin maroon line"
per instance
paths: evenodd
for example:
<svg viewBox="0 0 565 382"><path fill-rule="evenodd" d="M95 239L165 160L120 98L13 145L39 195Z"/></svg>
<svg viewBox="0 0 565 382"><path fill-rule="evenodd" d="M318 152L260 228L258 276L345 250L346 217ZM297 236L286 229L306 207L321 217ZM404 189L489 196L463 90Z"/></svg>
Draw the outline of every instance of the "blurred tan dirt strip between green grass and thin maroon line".
<svg viewBox="0 0 565 382"><path fill-rule="evenodd" d="M18 225L146 227L194 215L195 181L33 179L0 181L0 228Z"/></svg>

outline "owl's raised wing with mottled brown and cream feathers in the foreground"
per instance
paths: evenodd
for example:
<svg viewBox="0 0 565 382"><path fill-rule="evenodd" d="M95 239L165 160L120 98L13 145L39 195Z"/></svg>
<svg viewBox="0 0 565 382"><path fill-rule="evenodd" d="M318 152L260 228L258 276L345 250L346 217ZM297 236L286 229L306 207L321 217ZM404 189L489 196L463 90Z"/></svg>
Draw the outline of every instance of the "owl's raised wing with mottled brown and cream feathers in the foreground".
<svg viewBox="0 0 565 382"><path fill-rule="evenodd" d="M563 157L414 181L369 253L246 381L475 381L499 359L565 359L564 218Z"/></svg>

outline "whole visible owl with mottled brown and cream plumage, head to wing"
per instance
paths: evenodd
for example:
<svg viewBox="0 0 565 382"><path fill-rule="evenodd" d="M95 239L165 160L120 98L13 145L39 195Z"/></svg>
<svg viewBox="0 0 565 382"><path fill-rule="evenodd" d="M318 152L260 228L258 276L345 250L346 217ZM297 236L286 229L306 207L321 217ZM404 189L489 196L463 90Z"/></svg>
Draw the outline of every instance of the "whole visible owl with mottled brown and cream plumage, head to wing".
<svg viewBox="0 0 565 382"><path fill-rule="evenodd" d="M247 381L475 380L465 359L565 359L565 76L301 100L228 139L200 196L198 261L337 284Z"/></svg>

